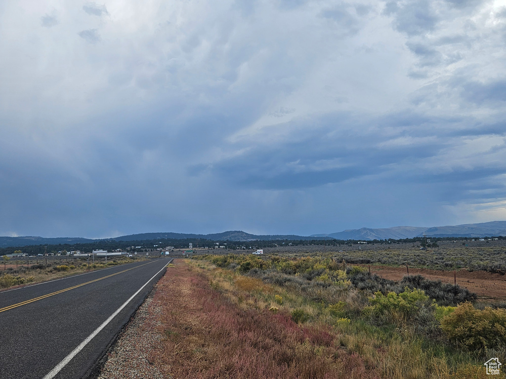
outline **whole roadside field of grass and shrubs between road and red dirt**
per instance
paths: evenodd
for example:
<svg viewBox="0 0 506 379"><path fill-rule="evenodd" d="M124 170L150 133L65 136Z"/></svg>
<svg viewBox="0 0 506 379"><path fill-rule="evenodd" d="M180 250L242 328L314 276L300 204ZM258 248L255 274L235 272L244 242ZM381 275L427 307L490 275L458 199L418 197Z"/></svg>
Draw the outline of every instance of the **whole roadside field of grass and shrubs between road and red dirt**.
<svg viewBox="0 0 506 379"><path fill-rule="evenodd" d="M176 260L146 316L149 365L173 378L484 379L485 361L506 360L506 311L462 303L475 299L465 289L280 255Z"/></svg>

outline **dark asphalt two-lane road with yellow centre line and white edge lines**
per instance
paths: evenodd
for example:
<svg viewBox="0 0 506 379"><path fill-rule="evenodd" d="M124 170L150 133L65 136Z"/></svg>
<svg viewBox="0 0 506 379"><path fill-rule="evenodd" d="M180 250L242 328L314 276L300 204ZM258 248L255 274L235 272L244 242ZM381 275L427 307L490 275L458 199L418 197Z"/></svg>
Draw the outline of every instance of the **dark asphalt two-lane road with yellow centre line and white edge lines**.
<svg viewBox="0 0 506 379"><path fill-rule="evenodd" d="M114 266L0 293L0 378L81 379L172 259Z"/></svg>

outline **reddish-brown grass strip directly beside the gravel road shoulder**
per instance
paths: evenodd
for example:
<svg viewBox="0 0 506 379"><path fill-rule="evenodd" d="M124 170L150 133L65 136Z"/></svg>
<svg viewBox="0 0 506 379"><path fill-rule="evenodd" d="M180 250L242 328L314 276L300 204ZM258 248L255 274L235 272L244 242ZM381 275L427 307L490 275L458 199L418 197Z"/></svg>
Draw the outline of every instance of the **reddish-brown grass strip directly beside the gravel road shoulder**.
<svg viewBox="0 0 506 379"><path fill-rule="evenodd" d="M242 309L183 261L159 281L153 303L162 308L164 338L150 361L165 377L379 377L336 344L330 326L299 326L281 312Z"/></svg>

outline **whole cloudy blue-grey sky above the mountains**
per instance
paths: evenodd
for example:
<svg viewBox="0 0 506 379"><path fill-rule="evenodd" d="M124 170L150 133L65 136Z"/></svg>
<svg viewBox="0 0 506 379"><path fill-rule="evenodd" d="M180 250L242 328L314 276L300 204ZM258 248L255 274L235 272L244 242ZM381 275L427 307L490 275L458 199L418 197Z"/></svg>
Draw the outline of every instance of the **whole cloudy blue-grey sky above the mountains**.
<svg viewBox="0 0 506 379"><path fill-rule="evenodd" d="M0 2L0 235L506 219L506 0Z"/></svg>

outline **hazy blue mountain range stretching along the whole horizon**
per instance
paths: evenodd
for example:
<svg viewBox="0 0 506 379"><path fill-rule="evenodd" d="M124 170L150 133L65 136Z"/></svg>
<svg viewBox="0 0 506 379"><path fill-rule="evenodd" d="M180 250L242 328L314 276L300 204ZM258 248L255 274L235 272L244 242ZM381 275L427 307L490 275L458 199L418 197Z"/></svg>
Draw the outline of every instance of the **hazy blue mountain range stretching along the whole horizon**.
<svg viewBox="0 0 506 379"><path fill-rule="evenodd" d="M447 225L434 227L419 226L394 226L390 228L361 228L347 229L330 234L312 234L309 236L294 234L249 234L241 230L225 231L213 234L187 234L187 233L141 233L122 235L110 239L86 239L86 238L44 238L35 236L24 237L1 237L0 247L32 246L32 245L58 245L58 244L89 244L100 241L148 241L157 239L168 240L191 240L202 239L210 241L280 241L280 240L403 240L427 235L430 237L468 237L482 238L487 236L506 236L506 221L490 221L476 224Z"/></svg>

